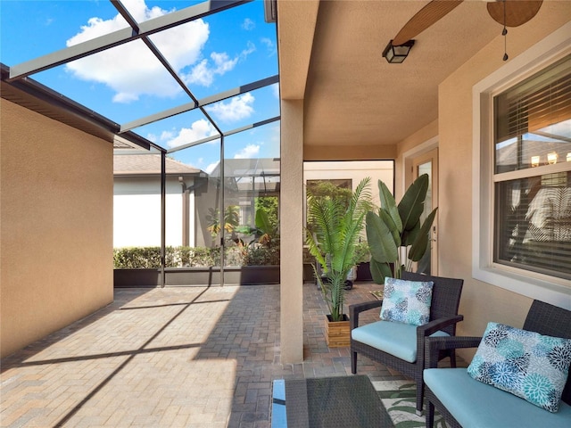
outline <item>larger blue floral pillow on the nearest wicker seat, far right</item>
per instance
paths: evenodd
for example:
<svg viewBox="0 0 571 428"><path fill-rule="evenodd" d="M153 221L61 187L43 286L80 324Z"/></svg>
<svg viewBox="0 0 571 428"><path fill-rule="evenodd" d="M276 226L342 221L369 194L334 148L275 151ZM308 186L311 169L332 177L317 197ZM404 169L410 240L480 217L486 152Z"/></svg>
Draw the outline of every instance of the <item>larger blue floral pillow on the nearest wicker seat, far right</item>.
<svg viewBox="0 0 571 428"><path fill-rule="evenodd" d="M468 374L557 412L571 363L571 339L489 323Z"/></svg>

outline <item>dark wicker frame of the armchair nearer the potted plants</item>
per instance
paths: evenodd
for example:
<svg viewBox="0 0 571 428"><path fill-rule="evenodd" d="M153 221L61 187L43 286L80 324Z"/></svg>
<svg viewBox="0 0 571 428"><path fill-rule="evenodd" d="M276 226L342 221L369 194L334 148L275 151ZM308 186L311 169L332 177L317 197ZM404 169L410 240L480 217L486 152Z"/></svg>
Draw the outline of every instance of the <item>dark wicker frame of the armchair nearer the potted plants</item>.
<svg viewBox="0 0 571 428"><path fill-rule="evenodd" d="M361 353L368 358L378 361L386 366L410 376L417 383L417 413L421 414L423 404L424 383L422 382L422 371L425 363L425 338L436 332L444 332L450 335L456 333L456 324L464 319L458 315L460 294L462 292L463 279L443 278L440 276L426 276L403 272L402 279L410 281L433 281L433 295L430 305L430 321L426 325L417 327L417 358L413 362L405 361L392 354L369 346L366 343L351 339L351 371L357 373L357 354ZM359 314L365 310L380 308L382 300L351 305L349 307L349 317L351 330L359 328ZM377 321L377 323L387 323L389 321ZM451 366L456 366L456 354L454 351L443 351L440 358L450 357Z"/></svg>

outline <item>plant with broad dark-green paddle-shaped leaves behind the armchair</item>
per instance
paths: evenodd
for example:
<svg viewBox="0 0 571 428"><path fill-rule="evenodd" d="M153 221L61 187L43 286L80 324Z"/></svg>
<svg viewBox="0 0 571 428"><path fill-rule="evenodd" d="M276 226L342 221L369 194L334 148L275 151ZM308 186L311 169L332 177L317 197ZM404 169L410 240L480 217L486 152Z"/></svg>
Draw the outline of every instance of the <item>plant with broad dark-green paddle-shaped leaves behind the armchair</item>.
<svg viewBox="0 0 571 428"><path fill-rule="evenodd" d="M421 222L424 211L428 175L418 177L397 205L385 183L378 181L381 207L378 213L369 211L366 218L370 269L373 281L385 283L385 276L400 278L402 270L410 271L426 253L430 226L436 210ZM402 258L402 259L401 259Z"/></svg>

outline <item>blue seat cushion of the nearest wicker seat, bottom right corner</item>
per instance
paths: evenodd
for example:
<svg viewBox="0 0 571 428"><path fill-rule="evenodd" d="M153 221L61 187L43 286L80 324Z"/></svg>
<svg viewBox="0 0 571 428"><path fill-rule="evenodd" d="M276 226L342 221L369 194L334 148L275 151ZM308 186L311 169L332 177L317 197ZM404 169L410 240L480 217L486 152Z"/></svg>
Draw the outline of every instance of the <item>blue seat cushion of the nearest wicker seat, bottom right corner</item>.
<svg viewBox="0 0 571 428"><path fill-rule="evenodd" d="M561 401L559 411L550 413L509 392L476 381L466 368L428 368L424 380L464 428L571 426L571 406L567 403Z"/></svg>

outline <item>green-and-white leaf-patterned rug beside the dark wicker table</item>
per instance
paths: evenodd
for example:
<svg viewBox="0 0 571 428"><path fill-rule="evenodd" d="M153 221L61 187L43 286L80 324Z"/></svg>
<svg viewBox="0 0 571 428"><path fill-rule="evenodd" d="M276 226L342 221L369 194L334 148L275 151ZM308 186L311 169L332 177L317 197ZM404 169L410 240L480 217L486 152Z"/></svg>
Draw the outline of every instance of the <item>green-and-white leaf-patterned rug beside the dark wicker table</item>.
<svg viewBox="0 0 571 428"><path fill-rule="evenodd" d="M425 427L425 416L417 416L416 385L411 381L375 381L383 406L395 428ZM448 428L443 417L434 412L434 428Z"/></svg>

